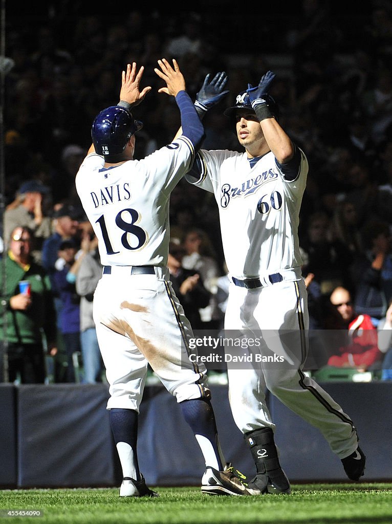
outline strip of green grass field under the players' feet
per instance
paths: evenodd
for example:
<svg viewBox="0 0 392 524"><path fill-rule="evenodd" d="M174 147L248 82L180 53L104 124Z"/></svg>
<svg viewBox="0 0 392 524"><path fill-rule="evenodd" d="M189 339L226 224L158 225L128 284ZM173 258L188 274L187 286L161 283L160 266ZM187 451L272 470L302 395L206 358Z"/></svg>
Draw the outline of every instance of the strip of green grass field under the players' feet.
<svg viewBox="0 0 392 524"><path fill-rule="evenodd" d="M291 495L217 497L197 487L156 488L159 498L119 498L118 489L0 490L0 522L58 524L390 524L392 484L292 485ZM39 510L8 517L5 510Z"/></svg>

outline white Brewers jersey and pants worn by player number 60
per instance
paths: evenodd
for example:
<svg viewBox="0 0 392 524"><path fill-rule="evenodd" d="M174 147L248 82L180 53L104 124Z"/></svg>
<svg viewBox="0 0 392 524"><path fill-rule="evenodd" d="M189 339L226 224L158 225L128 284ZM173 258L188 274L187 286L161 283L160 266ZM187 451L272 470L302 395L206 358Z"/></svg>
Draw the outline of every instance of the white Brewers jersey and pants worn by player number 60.
<svg viewBox="0 0 392 524"><path fill-rule="evenodd" d="M268 389L317 427L332 451L342 458L358 445L353 423L301 370L309 315L307 290L301 278L298 225L308 161L303 151L299 152L298 175L292 181L285 179L271 151L251 167L245 152L202 150L200 179L187 178L215 194L230 277L259 277L261 283L246 289L231 279L225 337L262 340L260 347L248 346L246 355L252 358L257 354L267 359L277 357L277 361L282 358L280 363L227 364L230 405L237 427L243 433L275 428L265 397ZM276 273L284 278L273 283L268 276ZM236 347L225 345L226 356L237 353Z"/></svg>

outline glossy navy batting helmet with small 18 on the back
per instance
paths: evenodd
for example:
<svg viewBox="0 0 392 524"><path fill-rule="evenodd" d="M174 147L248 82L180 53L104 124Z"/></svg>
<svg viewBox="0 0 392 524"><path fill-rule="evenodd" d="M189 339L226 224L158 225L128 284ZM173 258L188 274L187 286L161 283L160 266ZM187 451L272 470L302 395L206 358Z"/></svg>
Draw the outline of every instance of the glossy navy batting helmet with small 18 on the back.
<svg viewBox="0 0 392 524"><path fill-rule="evenodd" d="M124 107L113 105L99 113L91 127L95 151L103 156L121 154L129 138L143 127Z"/></svg>

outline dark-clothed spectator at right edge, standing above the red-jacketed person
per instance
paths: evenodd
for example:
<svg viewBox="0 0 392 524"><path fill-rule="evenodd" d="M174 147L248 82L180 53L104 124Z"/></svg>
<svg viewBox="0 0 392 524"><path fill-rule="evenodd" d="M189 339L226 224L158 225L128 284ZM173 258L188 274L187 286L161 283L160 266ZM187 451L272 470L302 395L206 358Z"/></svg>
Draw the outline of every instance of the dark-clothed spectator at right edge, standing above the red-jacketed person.
<svg viewBox="0 0 392 524"><path fill-rule="evenodd" d="M355 284L355 311L368 314L377 325L392 298L392 253L386 222L370 221L362 230L364 251L351 267Z"/></svg>

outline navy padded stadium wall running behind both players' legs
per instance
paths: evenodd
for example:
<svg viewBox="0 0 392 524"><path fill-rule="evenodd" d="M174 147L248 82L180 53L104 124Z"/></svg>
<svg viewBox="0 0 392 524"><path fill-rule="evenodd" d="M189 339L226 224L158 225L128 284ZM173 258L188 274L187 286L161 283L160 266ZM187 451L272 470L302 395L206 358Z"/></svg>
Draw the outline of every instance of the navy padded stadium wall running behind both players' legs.
<svg viewBox="0 0 392 524"><path fill-rule="evenodd" d="M391 481L392 383L323 383L356 424L367 455L364 482ZM226 460L247 476L254 464L234 424L227 386L212 385ZM106 410L107 385L0 385L0 487L118 487L121 469ZM290 481L347 482L320 431L275 397L280 461ZM176 399L147 386L140 407L138 458L151 486L200 485L204 461Z"/></svg>

